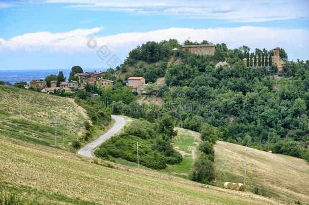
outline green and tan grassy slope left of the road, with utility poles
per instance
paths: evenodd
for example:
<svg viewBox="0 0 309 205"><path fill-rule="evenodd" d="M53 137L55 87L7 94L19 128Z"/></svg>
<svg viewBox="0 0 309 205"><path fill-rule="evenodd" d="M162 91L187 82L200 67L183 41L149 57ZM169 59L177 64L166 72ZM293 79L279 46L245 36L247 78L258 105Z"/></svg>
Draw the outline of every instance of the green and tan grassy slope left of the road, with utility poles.
<svg viewBox="0 0 309 205"><path fill-rule="evenodd" d="M20 113L20 97L22 116ZM53 145L57 118L57 144L67 149L81 135L88 119L85 111L73 99L0 86L0 135Z"/></svg>

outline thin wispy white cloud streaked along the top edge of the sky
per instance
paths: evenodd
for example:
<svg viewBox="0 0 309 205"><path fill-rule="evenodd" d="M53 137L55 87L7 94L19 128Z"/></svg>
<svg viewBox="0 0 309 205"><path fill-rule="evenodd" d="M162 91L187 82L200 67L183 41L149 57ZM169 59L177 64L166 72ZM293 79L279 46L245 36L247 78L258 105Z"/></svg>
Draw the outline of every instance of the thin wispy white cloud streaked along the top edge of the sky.
<svg viewBox="0 0 309 205"><path fill-rule="evenodd" d="M307 0L200 1L200 0L47 0L47 3L66 3L71 9L113 10L137 14L157 13L181 18L224 19L235 22L263 22L308 18Z"/></svg>

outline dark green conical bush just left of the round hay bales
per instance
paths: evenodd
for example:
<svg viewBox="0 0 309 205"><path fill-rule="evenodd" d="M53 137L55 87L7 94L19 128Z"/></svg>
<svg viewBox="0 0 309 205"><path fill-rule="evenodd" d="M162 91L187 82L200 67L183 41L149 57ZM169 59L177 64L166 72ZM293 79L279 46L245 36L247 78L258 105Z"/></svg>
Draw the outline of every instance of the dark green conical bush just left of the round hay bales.
<svg viewBox="0 0 309 205"><path fill-rule="evenodd" d="M189 178L192 181L206 184L215 179L213 163L208 159L206 154L201 153L201 155L195 160Z"/></svg>

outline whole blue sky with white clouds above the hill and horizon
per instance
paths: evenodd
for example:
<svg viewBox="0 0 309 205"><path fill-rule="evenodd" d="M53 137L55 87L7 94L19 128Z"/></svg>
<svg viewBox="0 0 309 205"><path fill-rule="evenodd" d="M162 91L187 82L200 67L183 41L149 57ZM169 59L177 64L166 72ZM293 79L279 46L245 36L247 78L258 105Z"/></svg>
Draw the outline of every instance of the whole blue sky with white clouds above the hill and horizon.
<svg viewBox="0 0 309 205"><path fill-rule="evenodd" d="M106 69L170 38L308 60L309 1L0 0L0 70Z"/></svg>

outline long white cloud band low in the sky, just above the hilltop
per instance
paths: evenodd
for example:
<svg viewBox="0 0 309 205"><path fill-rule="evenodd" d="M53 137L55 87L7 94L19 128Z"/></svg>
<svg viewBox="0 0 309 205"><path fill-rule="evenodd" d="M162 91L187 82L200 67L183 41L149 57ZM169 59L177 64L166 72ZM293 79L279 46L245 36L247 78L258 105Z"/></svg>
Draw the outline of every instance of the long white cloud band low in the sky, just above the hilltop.
<svg viewBox="0 0 309 205"><path fill-rule="evenodd" d="M97 47L95 49L88 48L87 41L100 30L101 28L96 27L92 29L76 29L62 33L26 33L8 40L0 38L0 42L2 42L0 51L21 50L80 53L96 52L100 46L107 45L111 51L121 54L121 56L126 56L128 51L149 40L160 42L164 39L176 38L181 43L188 37L190 40L197 40L198 42L206 39L214 44L225 43L230 49L247 45L252 49L265 47L269 50L278 46L285 48L288 53L294 53L295 55L297 55L295 52L298 51L299 45L305 50L309 49L308 29L254 26L207 29L168 28L149 32L128 32L109 36L95 36L94 39L97 42ZM308 55L308 53L302 53L302 55ZM305 57L303 56L303 58ZM302 56L299 56L299 58L302 58Z"/></svg>

